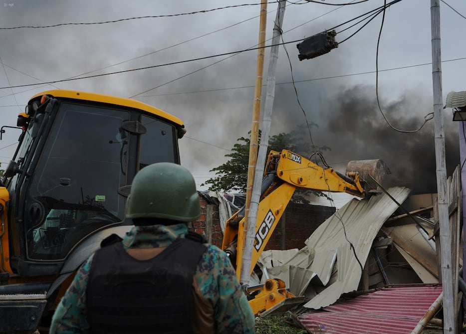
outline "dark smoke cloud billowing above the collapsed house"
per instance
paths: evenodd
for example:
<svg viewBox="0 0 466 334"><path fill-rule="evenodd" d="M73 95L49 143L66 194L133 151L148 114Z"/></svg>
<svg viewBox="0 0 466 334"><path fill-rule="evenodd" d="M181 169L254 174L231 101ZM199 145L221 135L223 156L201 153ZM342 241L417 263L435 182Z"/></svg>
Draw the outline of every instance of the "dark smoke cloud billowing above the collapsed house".
<svg viewBox="0 0 466 334"><path fill-rule="evenodd" d="M419 129L433 110L432 98L410 92L380 101L392 128L380 113L374 92L372 86L357 85L328 98L332 104L327 103L326 117L312 130L314 142L331 149L324 152L327 163L344 172L349 161L381 159L391 171L384 179L386 187L406 186L412 194L437 192L434 120L414 133L393 129ZM445 115L444 124L447 176L451 176L460 164L458 125L450 115Z"/></svg>

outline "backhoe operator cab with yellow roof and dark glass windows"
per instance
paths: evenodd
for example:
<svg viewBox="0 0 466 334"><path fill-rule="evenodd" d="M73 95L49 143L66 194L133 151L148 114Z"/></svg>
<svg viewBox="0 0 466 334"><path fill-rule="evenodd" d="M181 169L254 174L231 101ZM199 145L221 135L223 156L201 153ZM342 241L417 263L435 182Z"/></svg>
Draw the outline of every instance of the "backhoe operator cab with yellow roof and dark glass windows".
<svg viewBox="0 0 466 334"><path fill-rule="evenodd" d="M19 145L0 179L0 295L26 293L8 287L35 278L49 299L56 277L129 229L134 175L157 162L179 164L186 130L144 103L66 90L33 96L17 126Z"/></svg>

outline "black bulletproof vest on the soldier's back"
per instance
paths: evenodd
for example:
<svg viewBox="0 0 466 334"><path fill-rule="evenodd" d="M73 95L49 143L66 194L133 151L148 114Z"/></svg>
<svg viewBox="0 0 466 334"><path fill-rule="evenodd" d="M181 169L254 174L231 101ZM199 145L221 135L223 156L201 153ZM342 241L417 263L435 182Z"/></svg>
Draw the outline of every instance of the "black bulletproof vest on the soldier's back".
<svg viewBox="0 0 466 334"><path fill-rule="evenodd" d="M98 250L86 291L90 333L192 333L193 276L206 246L189 237L145 261L121 242Z"/></svg>

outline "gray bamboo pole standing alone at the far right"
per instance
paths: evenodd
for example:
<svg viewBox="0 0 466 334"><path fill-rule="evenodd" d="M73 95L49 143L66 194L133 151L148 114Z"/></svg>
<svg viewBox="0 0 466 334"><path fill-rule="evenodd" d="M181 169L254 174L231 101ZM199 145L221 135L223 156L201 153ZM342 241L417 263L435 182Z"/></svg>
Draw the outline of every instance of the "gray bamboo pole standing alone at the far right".
<svg viewBox="0 0 466 334"><path fill-rule="evenodd" d="M444 333L457 333L453 287L452 235L449 226L447 168L442 97L442 57L440 52L440 0L431 0L432 83L434 89L435 157L437 196L442 259L442 289L444 296Z"/></svg>

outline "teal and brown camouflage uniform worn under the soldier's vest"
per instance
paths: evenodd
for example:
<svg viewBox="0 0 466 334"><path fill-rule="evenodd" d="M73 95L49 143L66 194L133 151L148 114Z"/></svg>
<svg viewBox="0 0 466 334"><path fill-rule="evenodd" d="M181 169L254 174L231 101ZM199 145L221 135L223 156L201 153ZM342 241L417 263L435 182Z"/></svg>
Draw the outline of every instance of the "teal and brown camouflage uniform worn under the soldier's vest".
<svg viewBox="0 0 466 334"><path fill-rule="evenodd" d="M187 231L184 223L169 226L135 226L126 234L123 246L125 250L167 247ZM92 256L79 268L63 296L53 315L50 334L88 333L86 287L91 262ZM207 305L214 318L211 326L194 324L195 333L255 333L254 316L238 284L230 259L216 246L207 245L196 268L193 289L194 287L203 299L200 303L196 300L194 303ZM198 309L198 306L196 305L195 309Z"/></svg>

